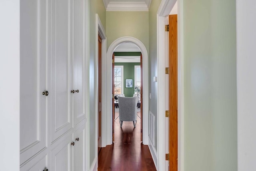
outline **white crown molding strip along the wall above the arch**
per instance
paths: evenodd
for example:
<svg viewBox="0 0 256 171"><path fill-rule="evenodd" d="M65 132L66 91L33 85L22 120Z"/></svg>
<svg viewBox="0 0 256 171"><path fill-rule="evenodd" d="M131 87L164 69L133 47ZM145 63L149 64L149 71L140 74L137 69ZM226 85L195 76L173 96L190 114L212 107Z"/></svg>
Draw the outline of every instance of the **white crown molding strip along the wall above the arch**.
<svg viewBox="0 0 256 171"><path fill-rule="evenodd" d="M148 11L145 2L109 2L106 11Z"/></svg>

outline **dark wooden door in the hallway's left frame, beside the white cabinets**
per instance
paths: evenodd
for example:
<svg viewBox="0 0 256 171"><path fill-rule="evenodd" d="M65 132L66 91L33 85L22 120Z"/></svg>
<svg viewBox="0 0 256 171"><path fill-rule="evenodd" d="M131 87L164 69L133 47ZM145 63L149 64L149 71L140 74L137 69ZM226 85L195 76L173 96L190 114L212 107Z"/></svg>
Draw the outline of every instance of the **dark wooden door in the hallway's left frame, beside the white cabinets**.
<svg viewBox="0 0 256 171"><path fill-rule="evenodd" d="M101 38L98 35L98 152L101 148L101 77L102 77L102 59L101 59Z"/></svg>

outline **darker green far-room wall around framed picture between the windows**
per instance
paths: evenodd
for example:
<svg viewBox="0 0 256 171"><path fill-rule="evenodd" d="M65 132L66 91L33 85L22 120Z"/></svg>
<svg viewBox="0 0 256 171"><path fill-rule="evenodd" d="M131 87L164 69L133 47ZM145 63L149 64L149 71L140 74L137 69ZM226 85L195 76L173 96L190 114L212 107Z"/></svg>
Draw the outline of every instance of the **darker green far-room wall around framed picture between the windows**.
<svg viewBox="0 0 256 171"><path fill-rule="evenodd" d="M140 63L120 63L116 62L115 66L124 66L124 95L125 97L132 97L134 94L134 66L140 66ZM132 88L125 87L125 79L132 79Z"/></svg>

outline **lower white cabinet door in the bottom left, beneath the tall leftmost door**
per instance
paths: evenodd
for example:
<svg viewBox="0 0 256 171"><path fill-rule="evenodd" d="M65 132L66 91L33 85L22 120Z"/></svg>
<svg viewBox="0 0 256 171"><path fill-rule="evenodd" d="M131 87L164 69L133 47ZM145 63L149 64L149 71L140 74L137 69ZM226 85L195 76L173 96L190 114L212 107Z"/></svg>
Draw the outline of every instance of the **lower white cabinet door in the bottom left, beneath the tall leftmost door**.
<svg viewBox="0 0 256 171"><path fill-rule="evenodd" d="M20 171L43 171L47 168L47 155L44 155L39 160L32 159L26 165L20 168Z"/></svg>

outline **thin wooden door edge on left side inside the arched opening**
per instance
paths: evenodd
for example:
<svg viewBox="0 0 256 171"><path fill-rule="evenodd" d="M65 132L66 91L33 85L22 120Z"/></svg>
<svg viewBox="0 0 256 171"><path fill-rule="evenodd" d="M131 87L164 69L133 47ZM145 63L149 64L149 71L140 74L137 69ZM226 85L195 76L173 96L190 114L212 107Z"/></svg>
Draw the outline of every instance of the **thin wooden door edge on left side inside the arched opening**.
<svg viewBox="0 0 256 171"><path fill-rule="evenodd" d="M114 104L114 95L115 95L115 54L112 55L112 141L115 140L115 104Z"/></svg>

